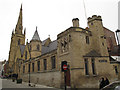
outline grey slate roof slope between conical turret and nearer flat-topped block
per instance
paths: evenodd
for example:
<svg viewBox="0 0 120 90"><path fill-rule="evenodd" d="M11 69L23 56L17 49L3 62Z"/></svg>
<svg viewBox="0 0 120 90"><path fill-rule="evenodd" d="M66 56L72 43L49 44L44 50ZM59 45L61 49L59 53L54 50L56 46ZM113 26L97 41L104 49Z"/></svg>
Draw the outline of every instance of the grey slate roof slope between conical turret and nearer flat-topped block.
<svg viewBox="0 0 120 90"><path fill-rule="evenodd" d="M42 42L44 43L44 41ZM42 55L57 49L57 40L52 41L48 46L42 45Z"/></svg>

